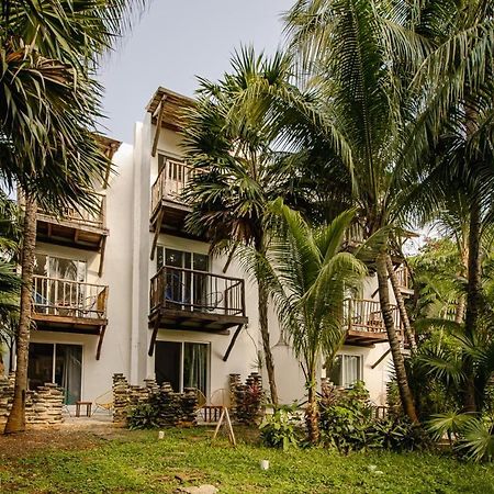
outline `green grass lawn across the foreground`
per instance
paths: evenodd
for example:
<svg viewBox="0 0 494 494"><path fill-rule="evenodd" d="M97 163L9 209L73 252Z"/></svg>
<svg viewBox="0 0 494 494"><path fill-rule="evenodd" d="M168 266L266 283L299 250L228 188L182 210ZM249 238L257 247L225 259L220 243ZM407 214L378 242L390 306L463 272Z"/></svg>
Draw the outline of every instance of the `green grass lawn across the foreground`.
<svg viewBox="0 0 494 494"><path fill-rule="evenodd" d="M157 431L122 431L86 449L27 451L2 459L0 492L172 493L210 483L221 493L494 493L494 467L431 453L282 452L210 438L203 429L169 429L164 440ZM270 460L268 471L261 459Z"/></svg>

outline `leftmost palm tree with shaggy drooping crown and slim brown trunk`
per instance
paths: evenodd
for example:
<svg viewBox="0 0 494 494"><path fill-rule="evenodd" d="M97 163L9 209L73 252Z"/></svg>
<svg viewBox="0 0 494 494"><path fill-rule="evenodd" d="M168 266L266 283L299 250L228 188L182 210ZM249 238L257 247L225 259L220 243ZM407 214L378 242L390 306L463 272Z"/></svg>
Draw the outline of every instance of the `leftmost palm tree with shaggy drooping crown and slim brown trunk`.
<svg viewBox="0 0 494 494"><path fill-rule="evenodd" d="M100 116L94 69L142 1L2 3L1 178L25 198L14 400L5 433L25 428L36 210L92 207L108 167L91 135Z"/></svg>

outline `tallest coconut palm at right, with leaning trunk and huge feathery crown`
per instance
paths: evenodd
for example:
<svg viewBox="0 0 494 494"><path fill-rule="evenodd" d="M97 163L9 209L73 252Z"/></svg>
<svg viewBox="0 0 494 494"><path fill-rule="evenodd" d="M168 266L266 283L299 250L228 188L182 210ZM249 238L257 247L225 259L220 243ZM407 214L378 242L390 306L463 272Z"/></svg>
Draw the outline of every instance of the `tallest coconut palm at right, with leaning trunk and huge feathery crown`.
<svg viewBox="0 0 494 494"><path fill-rule="evenodd" d="M333 165L336 181L346 168L366 237L390 233L375 256L379 295L402 403L415 422L390 307L390 254L393 236L406 226L409 189L430 173L426 153L451 121L449 106L467 82L489 93L492 2L300 0L285 19L300 80L318 92L337 136L339 149L333 139L328 154L344 165Z"/></svg>

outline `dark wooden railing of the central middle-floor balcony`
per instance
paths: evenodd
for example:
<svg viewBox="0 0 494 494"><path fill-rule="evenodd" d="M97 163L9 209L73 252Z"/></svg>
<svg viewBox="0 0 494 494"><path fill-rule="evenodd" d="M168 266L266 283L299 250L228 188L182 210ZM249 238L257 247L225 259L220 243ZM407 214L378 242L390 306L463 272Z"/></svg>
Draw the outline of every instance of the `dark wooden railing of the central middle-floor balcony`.
<svg viewBox="0 0 494 494"><path fill-rule="evenodd" d="M150 312L159 308L245 316L245 283L205 271L164 266L150 281Z"/></svg>

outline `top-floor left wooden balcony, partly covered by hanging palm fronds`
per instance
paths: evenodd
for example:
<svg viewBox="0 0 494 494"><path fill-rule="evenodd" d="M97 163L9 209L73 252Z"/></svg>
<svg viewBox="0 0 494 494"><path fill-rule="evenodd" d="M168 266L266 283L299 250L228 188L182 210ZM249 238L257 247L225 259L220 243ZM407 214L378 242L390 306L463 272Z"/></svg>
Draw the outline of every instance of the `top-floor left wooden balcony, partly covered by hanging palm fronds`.
<svg viewBox="0 0 494 494"><path fill-rule="evenodd" d="M38 210L37 239L100 251L109 231L105 226L106 198L98 194L97 211L66 207L60 214Z"/></svg>

